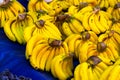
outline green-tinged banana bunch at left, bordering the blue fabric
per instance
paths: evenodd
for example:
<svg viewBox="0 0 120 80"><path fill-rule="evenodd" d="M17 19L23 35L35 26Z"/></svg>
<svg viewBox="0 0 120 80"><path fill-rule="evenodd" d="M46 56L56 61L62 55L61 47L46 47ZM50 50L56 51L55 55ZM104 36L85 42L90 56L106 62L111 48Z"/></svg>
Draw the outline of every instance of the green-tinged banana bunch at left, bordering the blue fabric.
<svg viewBox="0 0 120 80"><path fill-rule="evenodd" d="M19 13L5 23L4 32L10 40L25 44L24 29L33 22L33 18L28 13Z"/></svg>

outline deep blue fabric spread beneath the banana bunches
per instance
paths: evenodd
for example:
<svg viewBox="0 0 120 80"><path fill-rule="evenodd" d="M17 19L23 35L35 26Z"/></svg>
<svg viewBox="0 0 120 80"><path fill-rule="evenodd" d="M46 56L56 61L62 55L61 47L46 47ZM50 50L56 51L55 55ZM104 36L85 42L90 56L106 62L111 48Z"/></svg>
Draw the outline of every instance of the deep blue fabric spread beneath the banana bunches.
<svg viewBox="0 0 120 80"><path fill-rule="evenodd" d="M27 8L27 0L18 0ZM74 65L77 65L75 62ZM18 76L23 75L32 80L57 80L50 72L37 71L25 59L25 45L10 41L3 29L0 29L0 72L8 69Z"/></svg>

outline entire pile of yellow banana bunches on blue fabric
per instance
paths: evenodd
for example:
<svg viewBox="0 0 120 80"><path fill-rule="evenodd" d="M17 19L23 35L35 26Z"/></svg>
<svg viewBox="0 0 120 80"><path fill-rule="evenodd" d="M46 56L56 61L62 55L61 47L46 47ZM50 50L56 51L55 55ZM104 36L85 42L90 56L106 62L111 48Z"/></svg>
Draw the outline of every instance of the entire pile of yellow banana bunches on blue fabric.
<svg viewBox="0 0 120 80"><path fill-rule="evenodd" d="M0 27L56 79L120 79L120 0L3 0Z"/></svg>

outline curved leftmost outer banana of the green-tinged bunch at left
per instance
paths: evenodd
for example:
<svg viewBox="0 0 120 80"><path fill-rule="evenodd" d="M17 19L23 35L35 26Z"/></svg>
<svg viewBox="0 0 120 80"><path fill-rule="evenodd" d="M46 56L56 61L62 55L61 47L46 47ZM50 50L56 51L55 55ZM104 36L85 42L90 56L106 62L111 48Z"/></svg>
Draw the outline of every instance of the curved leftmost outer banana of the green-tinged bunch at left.
<svg viewBox="0 0 120 80"><path fill-rule="evenodd" d="M6 36L12 40L12 41L16 41L16 37L15 35L13 34L12 30L11 30L11 24L15 21L15 18L11 18L9 19L6 23L5 23L5 26L4 26L4 32L6 34Z"/></svg>

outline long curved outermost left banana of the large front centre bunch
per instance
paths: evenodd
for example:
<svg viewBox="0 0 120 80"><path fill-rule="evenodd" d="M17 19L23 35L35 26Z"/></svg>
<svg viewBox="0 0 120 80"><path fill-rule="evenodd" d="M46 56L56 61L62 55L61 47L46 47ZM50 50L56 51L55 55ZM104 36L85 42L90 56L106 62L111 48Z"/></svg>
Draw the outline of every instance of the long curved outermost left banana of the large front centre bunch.
<svg viewBox="0 0 120 80"><path fill-rule="evenodd" d="M29 57L32 54L32 50L35 47L35 44L41 39L45 39L43 35L40 36L36 35L36 36L32 36L31 39L27 42L26 52L25 52L26 59L29 59Z"/></svg>

